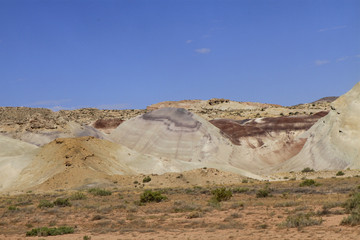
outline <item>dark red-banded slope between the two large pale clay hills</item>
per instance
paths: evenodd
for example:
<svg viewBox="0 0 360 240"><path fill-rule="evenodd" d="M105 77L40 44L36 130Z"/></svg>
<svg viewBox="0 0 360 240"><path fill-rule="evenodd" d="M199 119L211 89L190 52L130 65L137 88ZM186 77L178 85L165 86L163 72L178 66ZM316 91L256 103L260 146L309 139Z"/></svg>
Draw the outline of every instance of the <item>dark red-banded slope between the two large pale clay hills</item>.
<svg viewBox="0 0 360 240"><path fill-rule="evenodd" d="M259 118L236 121L216 119L210 122L221 129L223 135L237 145L239 155L247 153L249 161L258 161L257 169L265 173L271 166L282 163L295 156L305 144L306 139L297 138L308 130L327 112L310 116L291 116Z"/></svg>

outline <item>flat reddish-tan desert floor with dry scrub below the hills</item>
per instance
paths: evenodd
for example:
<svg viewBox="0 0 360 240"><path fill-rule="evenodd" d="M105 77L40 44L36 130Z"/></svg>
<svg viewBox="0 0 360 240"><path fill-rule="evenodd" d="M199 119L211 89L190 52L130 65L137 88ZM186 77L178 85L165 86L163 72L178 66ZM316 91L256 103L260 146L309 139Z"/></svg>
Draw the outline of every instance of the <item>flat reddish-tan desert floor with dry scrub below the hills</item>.
<svg viewBox="0 0 360 240"><path fill-rule="evenodd" d="M105 196L88 190L1 195L0 239L359 239L360 226L341 221L349 215L344 203L360 191L360 177L319 177L315 185L300 187L303 181L157 189L118 183ZM214 201L212 192L221 187L232 197ZM141 203L145 189L167 199ZM269 195L261 197L264 191ZM68 198L71 206L51 207L58 198ZM59 226L74 233L26 237L31 229Z"/></svg>

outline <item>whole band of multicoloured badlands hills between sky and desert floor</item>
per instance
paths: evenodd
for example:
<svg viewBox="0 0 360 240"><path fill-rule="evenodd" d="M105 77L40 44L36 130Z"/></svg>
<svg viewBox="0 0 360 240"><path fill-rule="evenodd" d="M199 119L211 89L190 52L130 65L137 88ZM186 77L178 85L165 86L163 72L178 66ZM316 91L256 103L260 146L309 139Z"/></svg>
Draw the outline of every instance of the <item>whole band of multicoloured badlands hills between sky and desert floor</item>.
<svg viewBox="0 0 360 240"><path fill-rule="evenodd" d="M214 183L220 175L265 180L306 167L358 169L360 83L335 99L292 107L226 99L146 110L1 107L0 191L125 186L139 174L199 169Z"/></svg>

